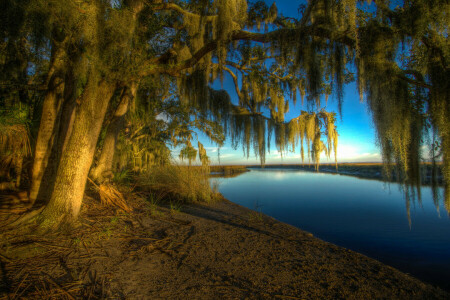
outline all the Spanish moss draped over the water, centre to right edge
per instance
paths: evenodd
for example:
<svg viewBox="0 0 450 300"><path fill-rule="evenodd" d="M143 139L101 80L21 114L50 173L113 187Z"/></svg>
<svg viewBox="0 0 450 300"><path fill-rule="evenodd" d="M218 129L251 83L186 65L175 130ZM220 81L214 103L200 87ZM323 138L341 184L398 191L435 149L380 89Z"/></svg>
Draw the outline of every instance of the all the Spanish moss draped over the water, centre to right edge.
<svg viewBox="0 0 450 300"><path fill-rule="evenodd" d="M241 42L233 52L234 63L227 61L231 56L219 46L214 54L217 63L189 71L190 78L181 84L189 87L189 103L205 108L210 117L219 120L233 144L243 145L246 156L253 147L262 163L262 149L270 149L272 135L282 154L300 143L302 160L307 156L317 163L319 153L330 157L334 152L337 163L335 116L317 111L323 95L326 102L329 95L334 95L342 116L343 86L356 75L360 99L367 99L372 112L386 176L395 176L408 189L414 187L409 194L420 198L421 165L425 159L421 149L429 134L426 124L430 124L437 137L429 148L436 148L433 160L443 161L443 176L446 186L450 186L450 89L445 50L449 48L445 36L448 22L439 21L446 18L446 10L420 0L407 1L401 8L390 10L389 1L379 0L375 1L376 9L367 12L358 3L361 1L311 1L304 19L297 23L275 21L274 5L269 9L252 4L255 11L249 13L247 26L259 31L262 23L275 21L290 30L280 30L267 47ZM203 19L210 22L211 37L222 45L233 30L244 26L245 17L238 17L240 7L244 7L240 1L215 1L209 13L200 14L202 17L194 23L200 24ZM331 32L328 38L323 38L322 30ZM264 63L266 57L274 63ZM399 61L404 63L406 72L399 67ZM354 73L349 71L349 63L353 63ZM214 75L210 76L208 70ZM210 113L213 107L208 99L214 93L205 83L225 70L235 80L239 107L220 96L224 101L219 101L222 113L218 117L217 113ZM302 104L306 99L311 113L302 113L285 123L289 101L295 103L297 94ZM270 115L261 114L264 108ZM263 129L267 131L265 135L261 134ZM449 192L446 201L450 207Z"/></svg>

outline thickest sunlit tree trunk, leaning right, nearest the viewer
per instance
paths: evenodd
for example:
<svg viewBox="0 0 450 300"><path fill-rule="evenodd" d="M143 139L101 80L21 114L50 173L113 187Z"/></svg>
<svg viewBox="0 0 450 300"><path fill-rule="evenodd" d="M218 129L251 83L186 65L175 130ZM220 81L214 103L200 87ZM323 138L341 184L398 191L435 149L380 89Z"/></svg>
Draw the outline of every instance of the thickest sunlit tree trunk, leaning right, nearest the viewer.
<svg viewBox="0 0 450 300"><path fill-rule="evenodd" d="M92 77L81 96L50 201L41 214L44 227L73 221L80 212L98 136L115 90L114 84Z"/></svg>

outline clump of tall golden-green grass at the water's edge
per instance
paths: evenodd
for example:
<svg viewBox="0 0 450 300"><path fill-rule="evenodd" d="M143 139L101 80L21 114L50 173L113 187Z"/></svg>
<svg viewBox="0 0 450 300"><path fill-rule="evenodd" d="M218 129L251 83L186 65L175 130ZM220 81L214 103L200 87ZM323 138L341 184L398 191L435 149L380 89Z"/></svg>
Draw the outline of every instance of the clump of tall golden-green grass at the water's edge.
<svg viewBox="0 0 450 300"><path fill-rule="evenodd" d="M204 168L179 165L157 166L141 175L138 186L157 198L173 203L210 203L217 199L217 186L211 187Z"/></svg>

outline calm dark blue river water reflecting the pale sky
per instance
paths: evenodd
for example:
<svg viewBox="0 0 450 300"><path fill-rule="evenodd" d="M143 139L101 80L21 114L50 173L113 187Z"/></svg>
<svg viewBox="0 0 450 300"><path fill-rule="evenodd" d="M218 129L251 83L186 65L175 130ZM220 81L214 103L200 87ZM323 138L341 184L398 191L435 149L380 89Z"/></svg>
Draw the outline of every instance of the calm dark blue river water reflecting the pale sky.
<svg viewBox="0 0 450 300"><path fill-rule="evenodd" d="M219 183L230 201L450 289L450 219L428 187L410 204L410 226L397 184L286 169Z"/></svg>

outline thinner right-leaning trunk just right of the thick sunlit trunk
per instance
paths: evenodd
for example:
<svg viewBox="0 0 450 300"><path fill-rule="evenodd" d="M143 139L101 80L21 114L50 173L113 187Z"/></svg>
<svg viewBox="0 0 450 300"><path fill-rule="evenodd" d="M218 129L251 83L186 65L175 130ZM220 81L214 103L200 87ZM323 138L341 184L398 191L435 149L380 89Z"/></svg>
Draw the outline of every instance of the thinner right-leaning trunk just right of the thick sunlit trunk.
<svg viewBox="0 0 450 300"><path fill-rule="evenodd" d="M132 84L126 87L121 95L119 105L114 112L111 123L106 129L105 140L103 148L98 159L97 166L92 169L91 177L98 183L103 183L111 179L113 174L113 159L116 150L117 137L123 127L124 116L128 111L131 101L136 95L136 86Z"/></svg>

